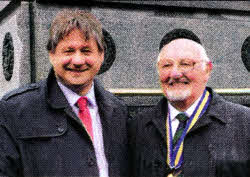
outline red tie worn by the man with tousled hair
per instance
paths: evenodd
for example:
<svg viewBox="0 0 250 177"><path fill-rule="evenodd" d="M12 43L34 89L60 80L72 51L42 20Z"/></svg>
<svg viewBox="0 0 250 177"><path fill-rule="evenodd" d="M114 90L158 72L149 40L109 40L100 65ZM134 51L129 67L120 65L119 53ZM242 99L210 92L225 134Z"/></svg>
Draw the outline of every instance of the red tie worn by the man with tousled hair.
<svg viewBox="0 0 250 177"><path fill-rule="evenodd" d="M79 98L77 101L78 107L79 107L79 117L88 132L89 136L91 137L93 141L93 130L92 130L92 121L91 116L89 113L89 108L87 106L88 104L88 98L86 96Z"/></svg>

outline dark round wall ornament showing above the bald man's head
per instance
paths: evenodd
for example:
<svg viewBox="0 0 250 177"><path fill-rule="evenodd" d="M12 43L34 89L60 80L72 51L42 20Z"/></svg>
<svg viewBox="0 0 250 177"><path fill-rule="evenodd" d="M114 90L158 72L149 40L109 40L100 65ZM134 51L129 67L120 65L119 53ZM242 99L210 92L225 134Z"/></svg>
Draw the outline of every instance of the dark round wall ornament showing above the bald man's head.
<svg viewBox="0 0 250 177"><path fill-rule="evenodd" d="M189 39L189 40L192 40L201 44L201 41L198 38L198 36L196 36L196 34L194 34L192 31L189 31L187 29L174 29L168 32L167 34L165 34L165 36L162 38L160 42L159 50L161 50L164 47L164 45L179 38Z"/></svg>

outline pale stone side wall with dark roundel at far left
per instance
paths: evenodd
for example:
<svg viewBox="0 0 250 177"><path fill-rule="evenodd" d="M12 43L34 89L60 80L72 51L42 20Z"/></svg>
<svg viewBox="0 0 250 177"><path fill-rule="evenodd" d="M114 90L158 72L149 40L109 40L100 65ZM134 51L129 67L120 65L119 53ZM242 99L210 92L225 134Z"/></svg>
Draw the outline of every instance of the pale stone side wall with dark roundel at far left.
<svg viewBox="0 0 250 177"><path fill-rule="evenodd" d="M29 16L27 2L0 2L0 96L31 82Z"/></svg>

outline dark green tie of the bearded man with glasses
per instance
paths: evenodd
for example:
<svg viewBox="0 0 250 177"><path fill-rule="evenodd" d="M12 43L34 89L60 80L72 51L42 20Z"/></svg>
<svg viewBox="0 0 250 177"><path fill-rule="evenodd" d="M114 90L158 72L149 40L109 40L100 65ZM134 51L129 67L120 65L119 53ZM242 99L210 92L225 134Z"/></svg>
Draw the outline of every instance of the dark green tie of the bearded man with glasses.
<svg viewBox="0 0 250 177"><path fill-rule="evenodd" d="M175 132L175 135L174 135L174 138L173 138L173 147L176 146L176 143L178 142L178 140L180 139L184 129L185 129L185 126L186 126L186 123L187 123L187 119L188 119L188 116L186 116L185 113L179 113L177 116L176 116L176 119L179 120L179 126Z"/></svg>

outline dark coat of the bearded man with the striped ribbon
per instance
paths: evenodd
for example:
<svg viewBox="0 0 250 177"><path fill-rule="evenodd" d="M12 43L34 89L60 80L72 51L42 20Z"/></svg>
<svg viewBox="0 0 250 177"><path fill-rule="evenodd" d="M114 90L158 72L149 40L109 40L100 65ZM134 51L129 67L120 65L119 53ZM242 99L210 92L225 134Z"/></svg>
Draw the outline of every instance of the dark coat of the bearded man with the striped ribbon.
<svg viewBox="0 0 250 177"><path fill-rule="evenodd" d="M185 177L250 176L250 109L225 101L212 92L212 101L184 140ZM129 128L133 176L166 176L167 100L136 117Z"/></svg>

